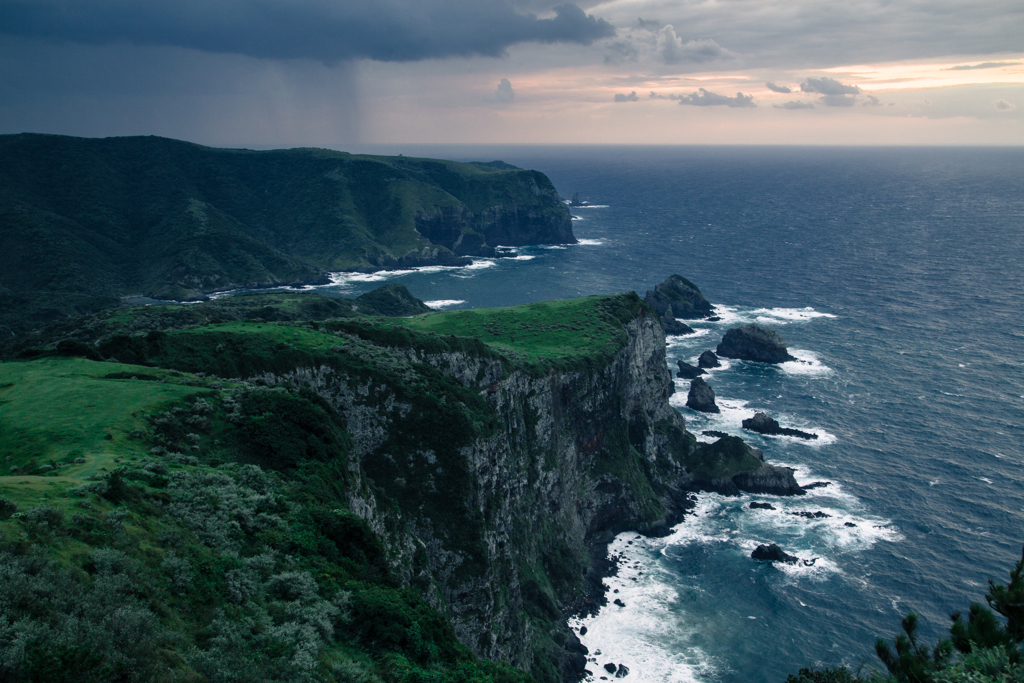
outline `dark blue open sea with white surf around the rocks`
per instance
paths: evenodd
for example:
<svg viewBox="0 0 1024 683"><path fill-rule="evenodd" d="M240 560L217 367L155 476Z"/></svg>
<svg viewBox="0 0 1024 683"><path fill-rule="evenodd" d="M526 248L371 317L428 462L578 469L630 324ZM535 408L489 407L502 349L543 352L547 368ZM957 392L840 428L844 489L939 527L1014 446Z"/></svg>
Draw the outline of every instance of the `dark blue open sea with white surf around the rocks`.
<svg viewBox="0 0 1024 683"><path fill-rule="evenodd" d="M683 380L673 404L694 433L742 435L800 481L830 485L802 498L701 494L672 536L621 535L607 584L626 606L573 623L588 628L595 679L611 678L606 663L635 683L880 668L874 639L891 639L907 611L934 642L989 579L1006 582L1024 543L1024 150L372 151L541 170L591 203L572 209L581 244L339 275L325 293L394 282L436 307L472 308L642 296L679 273L723 319L670 338L673 370L748 322L776 329L799 358L713 370L720 415L685 408ZM743 431L756 411L819 437ZM829 516L791 514L817 511ZM751 559L763 543L814 562Z"/></svg>

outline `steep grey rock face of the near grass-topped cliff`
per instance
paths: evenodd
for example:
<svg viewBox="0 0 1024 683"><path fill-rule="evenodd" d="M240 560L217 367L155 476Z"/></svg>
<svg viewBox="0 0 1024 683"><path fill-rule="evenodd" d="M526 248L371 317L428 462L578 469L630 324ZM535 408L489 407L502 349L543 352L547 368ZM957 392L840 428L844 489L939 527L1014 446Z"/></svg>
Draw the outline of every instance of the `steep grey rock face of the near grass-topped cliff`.
<svg viewBox="0 0 1024 683"><path fill-rule="evenodd" d="M429 364L478 392L498 418L446 465L431 450L410 462L391 453L397 430L415 418L393 387L328 368L264 378L308 387L344 416L358 456L351 508L390 544L403 580L447 612L479 655L540 680L572 678L585 665L563 614L584 593L592 545L675 521L673 482L693 439L668 402L662 326L639 310L610 361L572 370L510 371L470 352L391 349L395 364ZM457 486L445 466L463 468ZM401 501L414 488L443 495L450 510L412 509Z"/></svg>

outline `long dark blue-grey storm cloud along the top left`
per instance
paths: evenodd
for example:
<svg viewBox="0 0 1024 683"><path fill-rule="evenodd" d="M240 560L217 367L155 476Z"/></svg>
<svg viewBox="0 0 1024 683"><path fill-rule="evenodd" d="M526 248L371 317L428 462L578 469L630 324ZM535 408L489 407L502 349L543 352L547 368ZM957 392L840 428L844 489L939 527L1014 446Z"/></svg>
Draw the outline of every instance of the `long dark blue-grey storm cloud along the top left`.
<svg viewBox="0 0 1024 683"><path fill-rule="evenodd" d="M538 18L508 0L0 0L0 34L337 62L499 56L515 43L615 33L578 5L554 12Z"/></svg>

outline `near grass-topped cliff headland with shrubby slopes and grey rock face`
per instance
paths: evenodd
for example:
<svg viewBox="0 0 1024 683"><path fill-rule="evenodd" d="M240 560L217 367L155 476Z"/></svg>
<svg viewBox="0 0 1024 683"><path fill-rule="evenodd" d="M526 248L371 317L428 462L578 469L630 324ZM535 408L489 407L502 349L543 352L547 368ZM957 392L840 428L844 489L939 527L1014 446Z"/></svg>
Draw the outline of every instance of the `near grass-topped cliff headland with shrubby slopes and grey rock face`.
<svg viewBox="0 0 1024 683"><path fill-rule="evenodd" d="M271 321L319 297L274 296L238 304L255 319L220 302L178 327L175 306L93 318L98 336L0 364L0 498L18 510L2 575L38 571L17 559L36 547L82 604L111 566L136 587L83 613L0 579L12 618L49 625L34 637L58 661L40 667L106 666L102 620L135 605L166 626L132 671L181 680L233 680L231 661L262 680L575 680L564 620L600 603L615 532L667 532L687 489L777 483L739 439L696 446L634 294L304 323ZM61 659L67 642L93 658Z"/></svg>

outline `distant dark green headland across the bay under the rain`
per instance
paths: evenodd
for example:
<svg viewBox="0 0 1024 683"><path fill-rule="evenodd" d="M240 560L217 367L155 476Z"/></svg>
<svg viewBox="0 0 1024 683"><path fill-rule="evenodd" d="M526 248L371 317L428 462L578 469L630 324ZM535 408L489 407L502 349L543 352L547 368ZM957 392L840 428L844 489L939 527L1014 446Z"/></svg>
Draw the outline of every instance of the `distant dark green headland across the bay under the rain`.
<svg viewBox="0 0 1024 683"><path fill-rule="evenodd" d="M507 164L0 136L8 334L125 295L195 300L574 242L550 180Z"/></svg>

